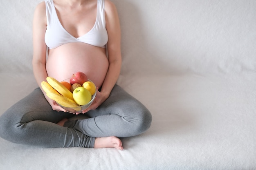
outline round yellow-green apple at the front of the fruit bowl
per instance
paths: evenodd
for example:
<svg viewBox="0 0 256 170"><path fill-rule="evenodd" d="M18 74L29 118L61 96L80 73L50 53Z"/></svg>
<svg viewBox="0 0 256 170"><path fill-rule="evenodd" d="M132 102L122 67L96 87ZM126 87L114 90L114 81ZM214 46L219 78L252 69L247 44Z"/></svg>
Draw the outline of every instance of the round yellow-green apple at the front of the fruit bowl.
<svg viewBox="0 0 256 170"><path fill-rule="evenodd" d="M78 87L73 91L73 98L77 104L85 105L90 102L92 95L86 88Z"/></svg>

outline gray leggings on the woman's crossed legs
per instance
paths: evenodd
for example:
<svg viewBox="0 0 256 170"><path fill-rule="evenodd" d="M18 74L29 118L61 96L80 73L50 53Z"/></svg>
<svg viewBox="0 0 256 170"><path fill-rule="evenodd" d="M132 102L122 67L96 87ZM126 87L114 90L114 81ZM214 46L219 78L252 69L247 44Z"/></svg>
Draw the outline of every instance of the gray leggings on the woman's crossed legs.
<svg viewBox="0 0 256 170"><path fill-rule="evenodd" d="M14 104L0 117L0 137L18 144L40 147L93 148L95 137L131 137L150 127L152 117L137 99L115 85L108 99L90 118L58 121L74 116L52 110L40 88Z"/></svg>

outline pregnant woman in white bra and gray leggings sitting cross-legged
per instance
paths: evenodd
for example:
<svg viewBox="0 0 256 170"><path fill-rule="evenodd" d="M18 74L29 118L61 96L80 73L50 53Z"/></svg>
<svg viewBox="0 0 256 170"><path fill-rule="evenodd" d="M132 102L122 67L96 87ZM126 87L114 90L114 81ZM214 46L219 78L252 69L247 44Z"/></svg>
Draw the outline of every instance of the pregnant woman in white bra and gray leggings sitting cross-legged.
<svg viewBox="0 0 256 170"><path fill-rule="evenodd" d="M110 0L45 0L33 21L36 88L0 117L0 136L40 147L117 148L119 137L139 135L151 114L116 84L121 70L120 26ZM99 88L94 103L74 116L42 90L46 77L62 81L81 71Z"/></svg>

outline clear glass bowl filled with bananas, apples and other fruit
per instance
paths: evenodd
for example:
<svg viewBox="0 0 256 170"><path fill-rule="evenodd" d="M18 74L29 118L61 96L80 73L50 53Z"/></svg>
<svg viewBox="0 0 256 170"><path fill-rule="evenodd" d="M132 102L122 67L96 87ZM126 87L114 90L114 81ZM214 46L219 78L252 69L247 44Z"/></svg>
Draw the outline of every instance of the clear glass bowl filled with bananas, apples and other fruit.
<svg viewBox="0 0 256 170"><path fill-rule="evenodd" d="M58 82L47 77L41 86L46 95L69 113L82 113L94 101L97 93L95 84L82 72Z"/></svg>

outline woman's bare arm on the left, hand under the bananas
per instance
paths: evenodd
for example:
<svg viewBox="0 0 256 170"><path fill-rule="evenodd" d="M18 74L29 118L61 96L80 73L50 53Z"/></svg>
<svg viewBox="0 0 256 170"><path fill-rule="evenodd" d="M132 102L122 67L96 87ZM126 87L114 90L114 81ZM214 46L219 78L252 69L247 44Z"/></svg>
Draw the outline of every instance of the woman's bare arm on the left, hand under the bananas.
<svg viewBox="0 0 256 170"><path fill-rule="evenodd" d="M65 111L63 108L58 106L56 102L47 97L45 91L43 91L41 82L46 81L46 44L45 44L45 31L47 26L46 13L45 13L45 2L41 2L35 9L33 19L33 72L38 86L41 88L45 95L45 98L52 106L53 110Z"/></svg>

